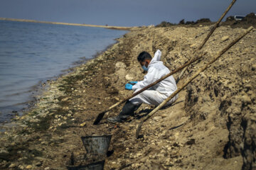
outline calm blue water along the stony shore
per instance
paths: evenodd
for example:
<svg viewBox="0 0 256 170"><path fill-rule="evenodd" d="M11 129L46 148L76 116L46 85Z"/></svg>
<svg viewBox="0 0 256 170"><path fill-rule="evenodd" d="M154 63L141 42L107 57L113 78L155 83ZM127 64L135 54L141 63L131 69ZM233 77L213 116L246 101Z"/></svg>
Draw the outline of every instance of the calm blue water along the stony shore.
<svg viewBox="0 0 256 170"><path fill-rule="evenodd" d="M31 101L33 87L92 57L124 30L0 21L0 123Z"/></svg>

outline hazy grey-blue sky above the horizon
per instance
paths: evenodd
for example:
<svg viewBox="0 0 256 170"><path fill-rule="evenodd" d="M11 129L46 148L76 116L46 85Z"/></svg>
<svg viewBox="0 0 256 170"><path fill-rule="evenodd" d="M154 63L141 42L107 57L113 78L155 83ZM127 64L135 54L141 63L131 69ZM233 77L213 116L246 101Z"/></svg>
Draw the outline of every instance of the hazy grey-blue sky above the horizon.
<svg viewBox="0 0 256 170"><path fill-rule="evenodd" d="M0 17L108 26L149 26L210 18L232 0L1 0ZM237 0L227 16L256 13L256 0Z"/></svg>

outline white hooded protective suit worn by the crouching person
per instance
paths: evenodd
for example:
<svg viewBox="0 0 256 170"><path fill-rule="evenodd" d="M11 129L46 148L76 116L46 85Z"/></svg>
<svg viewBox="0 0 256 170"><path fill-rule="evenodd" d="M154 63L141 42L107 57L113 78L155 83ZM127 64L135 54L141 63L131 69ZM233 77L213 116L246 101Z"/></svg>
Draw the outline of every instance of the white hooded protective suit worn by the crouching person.
<svg viewBox="0 0 256 170"><path fill-rule="evenodd" d="M151 62L149 63L148 72L144 76L144 80L137 82L137 84L134 84L134 86L132 86L132 90L137 92L145 86L148 86L154 81L160 79L164 75L170 73L170 70L164 66L163 62L161 62L160 59L161 51L157 50ZM171 94L173 94L174 91L176 91L176 89L176 81L173 76L170 76L160 81L158 84L155 84L151 88L143 91L141 94L134 96L129 101L131 101L132 104L134 105L146 103L158 106L166 98L171 96ZM174 101L176 101L177 98L178 94L174 96L174 98L171 98L171 100L168 103L166 103L166 106L170 105L171 103L174 103Z"/></svg>

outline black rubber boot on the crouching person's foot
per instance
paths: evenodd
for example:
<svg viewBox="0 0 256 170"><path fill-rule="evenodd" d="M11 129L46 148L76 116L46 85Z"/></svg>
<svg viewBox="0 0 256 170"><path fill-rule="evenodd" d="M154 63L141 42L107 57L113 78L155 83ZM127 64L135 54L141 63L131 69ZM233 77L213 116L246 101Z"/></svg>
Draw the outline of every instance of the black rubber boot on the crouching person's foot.
<svg viewBox="0 0 256 170"><path fill-rule="evenodd" d="M127 103L124 104L124 107L122 108L122 111L119 113L119 115L112 118L107 118L107 121L111 123L122 123L129 116L134 115L134 111L137 111L139 106L141 106L141 104L134 105L130 101L127 101Z"/></svg>

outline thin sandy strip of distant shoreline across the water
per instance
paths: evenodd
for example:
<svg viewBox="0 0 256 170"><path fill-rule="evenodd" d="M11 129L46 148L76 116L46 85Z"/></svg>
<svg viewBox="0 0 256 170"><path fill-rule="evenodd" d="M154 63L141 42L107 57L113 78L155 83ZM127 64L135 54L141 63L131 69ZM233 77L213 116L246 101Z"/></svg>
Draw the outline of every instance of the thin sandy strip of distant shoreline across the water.
<svg viewBox="0 0 256 170"><path fill-rule="evenodd" d="M87 26L87 27L98 27L98 28L109 28L116 30L130 30L132 27L120 27L120 26L98 26L91 24L81 24L81 23L58 23L50 21L36 21L36 20L26 20L26 19L15 19L15 18L1 18L1 21L19 21L19 22L28 22L28 23L48 23L48 24L57 24L57 25L66 25L66 26Z"/></svg>

